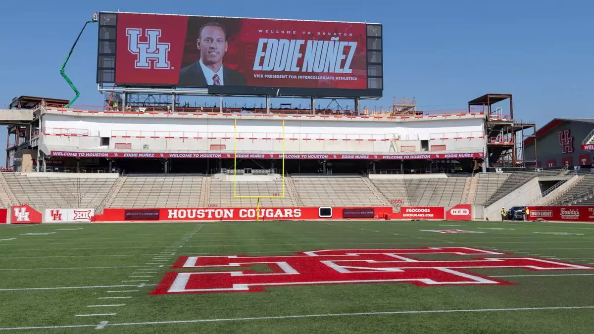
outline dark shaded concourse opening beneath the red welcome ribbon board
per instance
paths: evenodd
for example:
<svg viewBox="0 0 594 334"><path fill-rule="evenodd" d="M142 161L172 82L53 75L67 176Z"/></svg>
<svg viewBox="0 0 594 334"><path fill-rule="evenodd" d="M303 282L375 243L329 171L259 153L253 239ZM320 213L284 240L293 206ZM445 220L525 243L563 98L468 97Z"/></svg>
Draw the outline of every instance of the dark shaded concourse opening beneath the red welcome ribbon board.
<svg viewBox="0 0 594 334"><path fill-rule="evenodd" d="M124 173L204 173L233 169L233 159L154 159L154 158L75 158L56 157L50 160L56 167L119 169ZM48 165L48 168L52 166ZM282 159L237 159L237 169L275 169L280 171ZM479 168L478 160L419 159L419 160L343 160L343 159L285 159L285 172L289 174L369 174L375 171L394 173L415 172L473 172Z"/></svg>

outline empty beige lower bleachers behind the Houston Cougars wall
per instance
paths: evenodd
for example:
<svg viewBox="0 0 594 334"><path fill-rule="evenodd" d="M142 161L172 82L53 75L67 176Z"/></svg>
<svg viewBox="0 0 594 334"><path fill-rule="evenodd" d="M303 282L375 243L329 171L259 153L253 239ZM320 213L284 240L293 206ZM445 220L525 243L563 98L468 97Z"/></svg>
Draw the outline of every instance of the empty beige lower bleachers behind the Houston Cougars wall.
<svg viewBox="0 0 594 334"><path fill-rule="evenodd" d="M571 171L481 174L293 174L273 171L221 174L71 174L0 172L0 203L27 203L36 209L93 207L261 207L443 206L472 203L488 207L535 177ZM587 173L586 173L587 172ZM548 205L593 205L594 174L545 197ZM233 179L236 182L233 182ZM576 179L574 179L576 180ZM563 181L564 182L564 181ZM284 198L279 197L283 194ZM234 189L235 188L235 189ZM244 198L235 198L233 193ZM247 198L253 197L253 198ZM519 203L523 205L526 203Z"/></svg>

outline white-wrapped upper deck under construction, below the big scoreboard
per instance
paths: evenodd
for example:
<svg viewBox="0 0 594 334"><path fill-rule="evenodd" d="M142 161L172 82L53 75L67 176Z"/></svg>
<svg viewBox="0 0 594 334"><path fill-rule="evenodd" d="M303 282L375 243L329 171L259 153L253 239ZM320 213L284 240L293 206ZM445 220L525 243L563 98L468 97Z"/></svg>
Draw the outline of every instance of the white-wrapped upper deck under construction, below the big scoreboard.
<svg viewBox="0 0 594 334"><path fill-rule="evenodd" d="M168 172L172 165L185 165L181 171L188 172L195 171L189 165L206 164L200 172L210 172L210 168L229 168L225 160L236 155L245 165L238 167L252 168L247 159L267 160L256 165L274 168L274 160L282 159L284 153L285 159L298 160L295 172L302 172L301 166L308 169L314 165L318 165L314 171L326 171L326 160L361 160L368 164L350 163L342 172L445 165L446 169L463 165L463 170L472 171L479 169L486 157L497 159L503 150L513 146L513 137L501 131L505 126L501 124L513 122L513 117L494 114L490 107L488 111L469 107L463 112L365 111L357 115L298 109L88 109L39 105L20 115L18 110L3 112L5 122L22 124L18 131L12 129L16 136L9 138L7 165L19 169L24 154L30 156L29 168L41 171L48 165L130 171L137 164L122 160L144 159L146 166L151 164L147 160L160 159L155 163L156 171ZM489 150L492 147L497 150ZM170 163L188 158L223 161ZM306 166L308 162L301 160L315 161Z"/></svg>

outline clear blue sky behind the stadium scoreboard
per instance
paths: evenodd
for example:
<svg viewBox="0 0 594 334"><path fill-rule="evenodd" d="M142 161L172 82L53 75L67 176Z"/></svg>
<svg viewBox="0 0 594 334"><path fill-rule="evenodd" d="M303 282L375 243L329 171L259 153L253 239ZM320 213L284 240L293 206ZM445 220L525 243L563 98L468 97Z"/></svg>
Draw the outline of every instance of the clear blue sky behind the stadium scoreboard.
<svg viewBox="0 0 594 334"><path fill-rule="evenodd" d="M538 127L555 117L594 115L588 101L594 97L594 4L590 1L284 3L3 1L0 107L19 95L74 96L59 68L78 31L93 12L120 10L378 22L384 25L384 97L362 105L386 109L393 96L415 96L421 110L454 109L465 108L468 100L484 93L511 93L516 118L535 121ZM81 91L79 105L102 105L95 83L96 39L93 24L84 31L68 63L67 73ZM305 107L309 102L299 103ZM328 101L320 103L325 106ZM2 127L0 147L5 147L5 138ZM3 149L1 164L4 156Z"/></svg>

